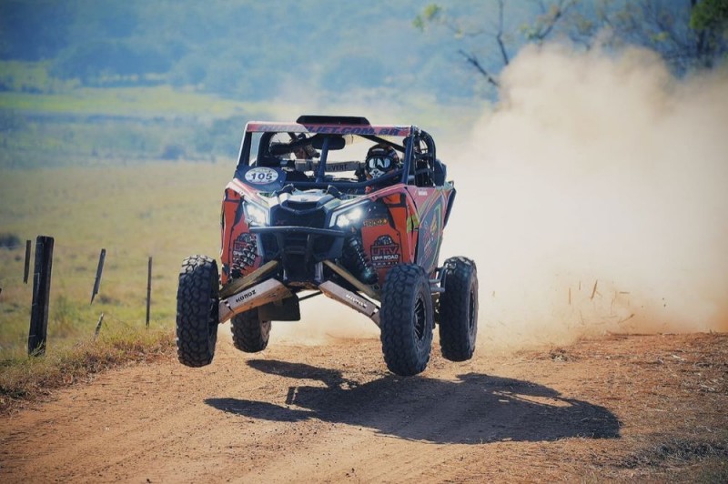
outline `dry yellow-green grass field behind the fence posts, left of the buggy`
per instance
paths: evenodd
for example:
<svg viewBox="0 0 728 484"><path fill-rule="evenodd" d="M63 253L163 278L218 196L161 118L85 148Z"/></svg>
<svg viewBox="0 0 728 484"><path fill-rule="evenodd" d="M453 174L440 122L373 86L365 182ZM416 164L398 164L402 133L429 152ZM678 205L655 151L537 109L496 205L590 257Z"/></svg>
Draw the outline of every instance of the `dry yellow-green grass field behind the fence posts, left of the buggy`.
<svg viewBox="0 0 728 484"><path fill-rule="evenodd" d="M32 300L32 280L22 281L25 239L35 247L38 235L55 237L49 350L93 337L101 313L103 330L143 328L149 256L150 326L173 328L178 267L193 253L217 257L219 204L232 172L232 161L5 171L0 232L22 247L0 249L0 359L25 352ZM101 248L104 274L90 305Z"/></svg>

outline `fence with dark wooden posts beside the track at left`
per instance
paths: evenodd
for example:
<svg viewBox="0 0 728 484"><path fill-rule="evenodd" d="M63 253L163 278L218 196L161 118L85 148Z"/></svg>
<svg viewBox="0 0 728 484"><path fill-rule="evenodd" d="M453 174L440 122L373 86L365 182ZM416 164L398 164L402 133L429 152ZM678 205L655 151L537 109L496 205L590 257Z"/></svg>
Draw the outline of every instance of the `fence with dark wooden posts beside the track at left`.
<svg viewBox="0 0 728 484"><path fill-rule="evenodd" d="M46 340L49 345L67 345L95 338L105 328L149 328L173 318L173 267L179 263L173 257L123 247L54 245L47 237L52 255L43 262L38 255L42 238L36 239L35 251L30 240L0 247L0 358L17 356L25 347L31 354L42 354ZM43 272L38 265L44 263L45 295L38 287ZM158 267L163 268L155 270ZM34 318L42 319L35 327Z"/></svg>

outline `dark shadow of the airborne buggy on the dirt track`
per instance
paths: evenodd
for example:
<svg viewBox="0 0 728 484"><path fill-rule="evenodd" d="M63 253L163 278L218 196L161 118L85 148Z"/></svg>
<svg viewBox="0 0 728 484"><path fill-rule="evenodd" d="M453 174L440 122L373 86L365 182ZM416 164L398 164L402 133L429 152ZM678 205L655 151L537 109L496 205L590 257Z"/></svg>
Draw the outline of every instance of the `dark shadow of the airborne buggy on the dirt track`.
<svg viewBox="0 0 728 484"><path fill-rule="evenodd" d="M620 437L620 422L608 409L524 380L469 373L457 381L387 376L359 384L329 368L261 359L248 365L325 386L292 386L281 404L241 398L207 398L205 403L249 418L316 418L433 443Z"/></svg>

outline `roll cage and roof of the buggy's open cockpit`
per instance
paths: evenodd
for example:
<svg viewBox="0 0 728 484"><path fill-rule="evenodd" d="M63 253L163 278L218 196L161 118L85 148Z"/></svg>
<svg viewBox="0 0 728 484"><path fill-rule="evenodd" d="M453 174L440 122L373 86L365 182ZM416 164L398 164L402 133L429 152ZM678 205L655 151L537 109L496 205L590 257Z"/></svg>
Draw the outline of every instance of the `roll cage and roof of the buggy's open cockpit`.
<svg viewBox="0 0 728 484"><path fill-rule="evenodd" d="M254 134L260 134L258 146L254 146ZM288 136L288 142L274 143L273 139L277 135ZM363 181L327 175L329 153L344 147L347 136L359 136L372 143L393 147L403 154L401 168L377 179ZM401 140L397 142L393 141L393 138ZM256 156L253 156L253 151ZM253 164L292 167L296 170L298 161L279 157L290 156L296 152L306 153L306 158L310 162L306 166L314 172L314 176L306 176L306 179L293 178L287 181L297 188L333 186L346 192L359 192L367 187L388 182L418 187L436 187L445 183L445 168L436 157L435 142L430 134L418 126L371 125L366 118L356 116L299 116L296 123L251 121L245 127L236 171ZM363 161L362 159L361 162ZM342 166L341 163L331 165L332 168Z"/></svg>

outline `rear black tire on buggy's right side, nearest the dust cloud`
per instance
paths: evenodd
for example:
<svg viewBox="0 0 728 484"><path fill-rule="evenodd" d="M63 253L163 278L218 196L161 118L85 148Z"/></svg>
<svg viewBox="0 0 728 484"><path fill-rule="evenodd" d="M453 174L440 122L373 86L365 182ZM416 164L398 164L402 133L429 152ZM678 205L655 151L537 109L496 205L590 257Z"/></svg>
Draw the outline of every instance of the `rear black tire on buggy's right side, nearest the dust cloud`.
<svg viewBox="0 0 728 484"><path fill-rule="evenodd" d="M472 358L478 335L478 270L465 257L445 261L440 294L440 349L450 361Z"/></svg>

